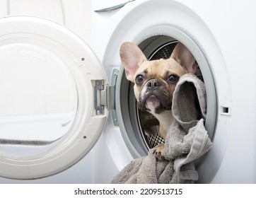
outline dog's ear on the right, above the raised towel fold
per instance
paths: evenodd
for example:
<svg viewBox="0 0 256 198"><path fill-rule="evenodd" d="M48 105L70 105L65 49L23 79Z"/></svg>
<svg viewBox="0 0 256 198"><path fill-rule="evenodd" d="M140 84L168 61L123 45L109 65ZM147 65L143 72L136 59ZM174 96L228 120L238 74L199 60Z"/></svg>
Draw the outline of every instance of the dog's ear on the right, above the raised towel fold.
<svg viewBox="0 0 256 198"><path fill-rule="evenodd" d="M194 59L190 50L185 47L181 42L175 46L173 53L170 58L175 59L179 64L181 64L187 72L194 74L197 70L197 62Z"/></svg>

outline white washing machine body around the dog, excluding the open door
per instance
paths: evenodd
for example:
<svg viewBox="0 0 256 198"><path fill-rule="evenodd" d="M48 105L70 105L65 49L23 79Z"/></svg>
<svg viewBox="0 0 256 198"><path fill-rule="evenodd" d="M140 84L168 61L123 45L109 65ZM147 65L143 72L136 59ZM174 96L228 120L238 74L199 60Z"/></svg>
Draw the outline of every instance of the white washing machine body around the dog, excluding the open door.
<svg viewBox="0 0 256 198"><path fill-rule="evenodd" d="M120 66L121 43L136 43L148 59L165 59L180 41L197 60L197 76L206 86L205 127L213 143L195 162L197 182L255 183L255 2L152 0L94 6L94 49L105 47L98 58L109 79L118 69L112 113L112 123L118 127L117 132L105 128L106 144L114 147L110 137L121 133L126 153L138 158L163 141L152 134L157 120L136 108L133 85ZM103 34L110 37L105 40ZM243 83L241 69L250 71L245 72ZM130 160L129 154L111 154L117 165Z"/></svg>

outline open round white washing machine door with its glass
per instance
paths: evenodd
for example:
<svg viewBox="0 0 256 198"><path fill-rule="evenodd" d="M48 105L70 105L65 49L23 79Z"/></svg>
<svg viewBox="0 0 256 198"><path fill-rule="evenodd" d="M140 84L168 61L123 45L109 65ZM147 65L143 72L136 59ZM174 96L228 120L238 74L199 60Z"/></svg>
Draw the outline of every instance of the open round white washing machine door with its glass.
<svg viewBox="0 0 256 198"><path fill-rule="evenodd" d="M85 156L103 129L103 67L57 23L16 16L1 18L0 30L0 176L58 173Z"/></svg>

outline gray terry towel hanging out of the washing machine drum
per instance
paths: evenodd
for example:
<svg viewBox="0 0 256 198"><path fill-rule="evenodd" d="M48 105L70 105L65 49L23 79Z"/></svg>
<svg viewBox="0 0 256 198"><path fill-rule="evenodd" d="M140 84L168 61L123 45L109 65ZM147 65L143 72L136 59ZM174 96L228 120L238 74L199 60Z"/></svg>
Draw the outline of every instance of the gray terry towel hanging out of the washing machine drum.
<svg viewBox="0 0 256 198"><path fill-rule="evenodd" d="M129 163L112 183L193 183L198 180L193 161L211 148L204 128L206 91L204 83L193 74L180 77L173 93L176 122L165 138L165 160L158 161L152 148L148 156Z"/></svg>

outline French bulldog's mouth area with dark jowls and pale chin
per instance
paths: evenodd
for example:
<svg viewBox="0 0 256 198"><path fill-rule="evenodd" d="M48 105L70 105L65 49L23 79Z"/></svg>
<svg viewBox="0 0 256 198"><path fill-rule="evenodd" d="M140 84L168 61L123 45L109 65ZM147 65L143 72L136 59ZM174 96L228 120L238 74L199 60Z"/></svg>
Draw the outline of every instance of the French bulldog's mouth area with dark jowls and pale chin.
<svg viewBox="0 0 256 198"><path fill-rule="evenodd" d="M165 110L172 109L172 98L171 97L159 97L158 95L148 95L143 100L139 100L138 108L143 111L155 112L160 114Z"/></svg>

